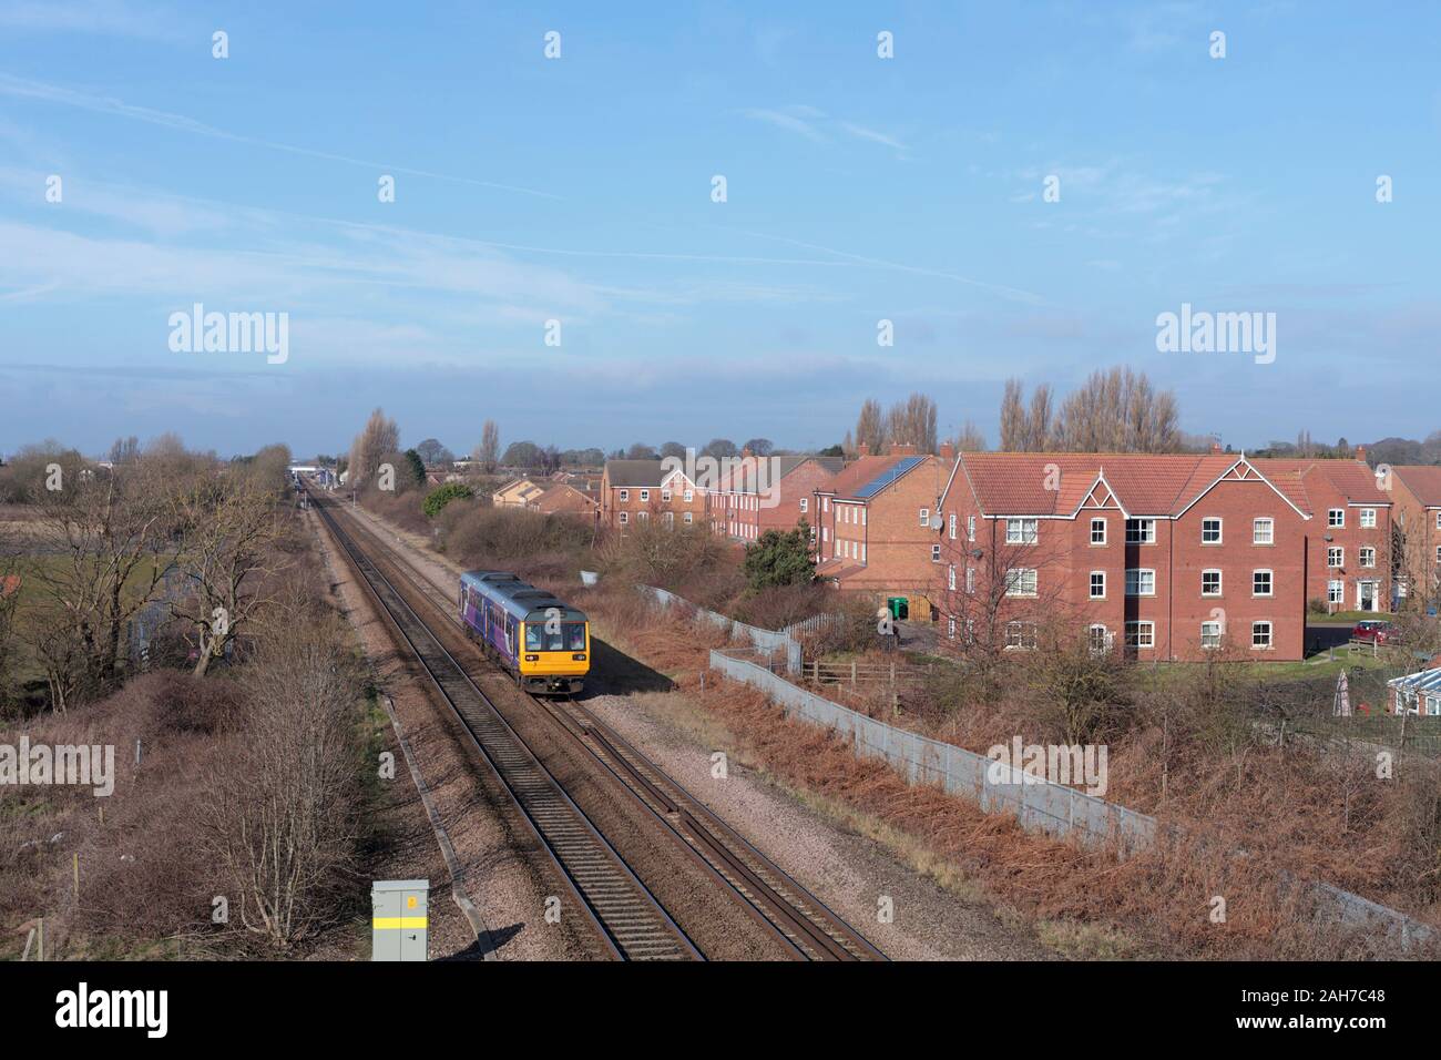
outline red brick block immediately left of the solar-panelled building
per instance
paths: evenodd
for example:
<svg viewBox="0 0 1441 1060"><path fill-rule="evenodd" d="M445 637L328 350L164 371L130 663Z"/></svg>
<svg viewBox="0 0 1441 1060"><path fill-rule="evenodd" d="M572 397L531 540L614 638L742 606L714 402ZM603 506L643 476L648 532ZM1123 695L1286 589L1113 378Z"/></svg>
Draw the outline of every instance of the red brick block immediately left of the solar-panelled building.
<svg viewBox="0 0 1441 1060"><path fill-rule="evenodd" d="M706 518L716 534L751 542L768 529L816 525L816 490L844 466L842 457L745 454L715 489L706 490Z"/></svg>

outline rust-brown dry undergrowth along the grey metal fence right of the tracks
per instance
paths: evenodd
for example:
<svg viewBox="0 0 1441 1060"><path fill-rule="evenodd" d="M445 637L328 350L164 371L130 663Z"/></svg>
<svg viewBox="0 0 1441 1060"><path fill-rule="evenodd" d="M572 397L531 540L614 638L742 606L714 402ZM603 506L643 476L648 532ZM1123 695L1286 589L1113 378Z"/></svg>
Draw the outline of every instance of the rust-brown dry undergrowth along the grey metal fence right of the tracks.
<svg viewBox="0 0 1441 1060"><path fill-rule="evenodd" d="M1425 792L1362 785L1353 769L1304 748L1248 748L1238 766L1192 743L1186 754L1169 751L1166 805L1141 806L1185 831L1167 831L1150 849L1121 860L1112 849L1027 832L1012 816L983 813L940 789L911 786L880 761L857 760L827 731L787 720L755 689L715 675L702 689L706 648L716 646L706 642L718 635L687 626L676 636L654 611L637 613L614 596L592 604L607 632L617 629L610 626L612 603L615 635L627 649L673 675L784 786L914 836L1058 937L1138 939L1153 956L1353 959L1382 952L1382 940L1340 929L1330 909L1319 909L1294 883L1314 878L1441 922L1435 904L1418 901L1408 885L1424 873L1428 851ZM984 721L954 724L951 736L984 753L984 741L1025 731L1016 725L1026 717L1012 704ZM1159 785L1153 736L1112 751L1111 800L1124 805L1128 795ZM1339 813L1347 798L1349 813ZM1213 920L1218 896L1223 922Z"/></svg>

